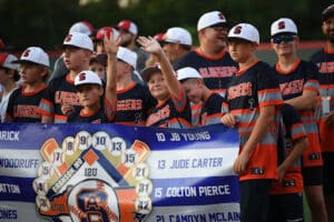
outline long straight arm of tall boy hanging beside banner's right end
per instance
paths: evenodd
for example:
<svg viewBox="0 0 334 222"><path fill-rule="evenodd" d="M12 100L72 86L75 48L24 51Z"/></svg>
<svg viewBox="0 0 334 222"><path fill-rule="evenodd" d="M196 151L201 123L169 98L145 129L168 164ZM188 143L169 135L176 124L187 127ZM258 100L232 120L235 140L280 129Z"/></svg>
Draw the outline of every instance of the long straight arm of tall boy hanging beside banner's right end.
<svg viewBox="0 0 334 222"><path fill-rule="evenodd" d="M259 117L254 125L254 129L247 142L245 143L243 151L239 153L239 155L234 162L234 171L237 174L244 173L249 160L249 154L267 132L269 125L268 123L274 120L274 114L275 114L274 105L259 108Z"/></svg>

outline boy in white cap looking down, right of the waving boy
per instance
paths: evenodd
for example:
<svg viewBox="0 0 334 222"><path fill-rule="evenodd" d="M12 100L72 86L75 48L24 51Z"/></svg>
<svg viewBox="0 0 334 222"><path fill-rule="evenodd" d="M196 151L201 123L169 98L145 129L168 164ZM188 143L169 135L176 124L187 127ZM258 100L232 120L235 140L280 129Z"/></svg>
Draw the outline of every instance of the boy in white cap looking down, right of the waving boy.
<svg viewBox="0 0 334 222"><path fill-rule="evenodd" d="M199 105L199 114L194 109L191 117L193 127L203 127L209 124L222 123L222 105L224 98L218 93L209 90L199 72L191 68L186 67L177 70L177 79L184 87L184 90L189 98L193 107ZM195 113L194 113L195 112Z"/></svg>

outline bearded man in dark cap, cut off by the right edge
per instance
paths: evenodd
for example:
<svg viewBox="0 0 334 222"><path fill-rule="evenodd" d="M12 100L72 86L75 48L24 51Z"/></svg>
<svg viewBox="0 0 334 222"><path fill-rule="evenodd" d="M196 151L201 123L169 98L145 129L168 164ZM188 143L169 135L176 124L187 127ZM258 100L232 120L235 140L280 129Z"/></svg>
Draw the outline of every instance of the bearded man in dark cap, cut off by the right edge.
<svg viewBox="0 0 334 222"><path fill-rule="evenodd" d="M322 31L326 38L324 49L314 53L311 61L318 68L321 109L320 117L321 149L324 160L324 196L328 221L334 221L334 4L322 12Z"/></svg>

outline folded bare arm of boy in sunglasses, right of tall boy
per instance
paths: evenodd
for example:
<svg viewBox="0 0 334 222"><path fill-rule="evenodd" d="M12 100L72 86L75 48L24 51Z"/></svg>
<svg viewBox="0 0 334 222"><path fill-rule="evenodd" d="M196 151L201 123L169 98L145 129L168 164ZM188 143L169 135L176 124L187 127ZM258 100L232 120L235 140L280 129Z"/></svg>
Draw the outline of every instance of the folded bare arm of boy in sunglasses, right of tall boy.
<svg viewBox="0 0 334 222"><path fill-rule="evenodd" d="M314 110L317 103L316 98L317 92L312 90L304 90L301 97L296 97L284 102L291 104L297 111Z"/></svg>

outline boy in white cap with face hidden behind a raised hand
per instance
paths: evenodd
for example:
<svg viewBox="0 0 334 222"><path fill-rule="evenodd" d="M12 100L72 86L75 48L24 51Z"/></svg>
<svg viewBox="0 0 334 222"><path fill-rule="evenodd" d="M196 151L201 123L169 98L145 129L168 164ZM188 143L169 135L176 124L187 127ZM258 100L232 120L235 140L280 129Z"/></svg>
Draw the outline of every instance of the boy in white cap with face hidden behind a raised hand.
<svg viewBox="0 0 334 222"><path fill-rule="evenodd" d="M127 48L118 47L120 39L115 41L112 38L108 43L110 44L109 48L117 48L116 54L114 50L108 52L108 61L116 61L116 63L108 63L108 67L111 67L112 77L116 77L115 82L117 85L115 123L145 125L146 119L156 101L146 85L139 84L131 79L131 73L136 68L137 56Z"/></svg>

